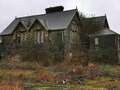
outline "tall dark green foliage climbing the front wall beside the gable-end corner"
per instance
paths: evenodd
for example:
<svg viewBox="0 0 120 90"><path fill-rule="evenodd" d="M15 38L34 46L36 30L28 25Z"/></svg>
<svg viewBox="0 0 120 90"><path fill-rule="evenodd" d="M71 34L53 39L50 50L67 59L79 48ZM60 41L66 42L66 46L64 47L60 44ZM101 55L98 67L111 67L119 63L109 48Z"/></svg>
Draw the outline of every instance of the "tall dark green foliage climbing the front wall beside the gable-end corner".
<svg viewBox="0 0 120 90"><path fill-rule="evenodd" d="M62 41L62 32L55 33L54 40L49 43L49 52L53 54L54 64L63 61L64 42Z"/></svg>

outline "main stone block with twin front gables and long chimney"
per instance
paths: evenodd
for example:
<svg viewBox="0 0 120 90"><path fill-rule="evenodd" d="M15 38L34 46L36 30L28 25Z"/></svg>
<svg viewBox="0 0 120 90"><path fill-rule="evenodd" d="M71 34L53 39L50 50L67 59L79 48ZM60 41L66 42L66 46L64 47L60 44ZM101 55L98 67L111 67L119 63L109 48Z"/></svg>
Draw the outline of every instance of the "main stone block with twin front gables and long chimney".
<svg viewBox="0 0 120 90"><path fill-rule="evenodd" d="M80 47L80 19L77 9L63 11L57 6L46 9L46 14L16 18L2 33L2 43L6 47L21 45L26 41L48 44L55 47L62 44L65 57L77 57Z"/></svg>

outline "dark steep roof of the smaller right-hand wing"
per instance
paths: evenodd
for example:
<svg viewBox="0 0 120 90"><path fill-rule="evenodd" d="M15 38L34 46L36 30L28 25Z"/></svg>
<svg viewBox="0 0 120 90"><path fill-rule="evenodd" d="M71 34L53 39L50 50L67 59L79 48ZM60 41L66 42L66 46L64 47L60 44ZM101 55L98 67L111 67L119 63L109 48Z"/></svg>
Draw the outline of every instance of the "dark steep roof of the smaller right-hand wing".
<svg viewBox="0 0 120 90"><path fill-rule="evenodd" d="M106 16L85 17L81 19L83 32L92 34L104 28L109 29L109 24Z"/></svg>

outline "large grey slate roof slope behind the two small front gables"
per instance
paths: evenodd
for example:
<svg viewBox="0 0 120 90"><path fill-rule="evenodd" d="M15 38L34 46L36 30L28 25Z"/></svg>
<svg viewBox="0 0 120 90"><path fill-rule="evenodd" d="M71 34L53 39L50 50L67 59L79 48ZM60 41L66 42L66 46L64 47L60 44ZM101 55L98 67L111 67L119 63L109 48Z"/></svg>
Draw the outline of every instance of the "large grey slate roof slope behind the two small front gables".
<svg viewBox="0 0 120 90"><path fill-rule="evenodd" d="M15 27L19 22L21 22L26 29L34 23L35 20L41 22L41 24L47 30L61 30L66 29L76 14L77 10L68 10L63 12L47 13L42 15L34 15L27 17L16 18L2 33L1 35L12 34Z"/></svg>

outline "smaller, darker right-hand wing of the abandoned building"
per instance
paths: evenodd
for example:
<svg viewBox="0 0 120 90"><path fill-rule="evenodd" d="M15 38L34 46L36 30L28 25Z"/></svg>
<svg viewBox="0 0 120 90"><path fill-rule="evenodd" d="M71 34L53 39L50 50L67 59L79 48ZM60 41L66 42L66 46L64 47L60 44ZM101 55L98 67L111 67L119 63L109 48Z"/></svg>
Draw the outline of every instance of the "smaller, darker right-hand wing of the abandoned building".
<svg viewBox="0 0 120 90"><path fill-rule="evenodd" d="M106 15L86 18L83 21L83 28L83 32L88 36L86 41L83 39L83 46L86 46L89 51L102 50L100 53L106 62L119 62L120 35L110 29Z"/></svg>

